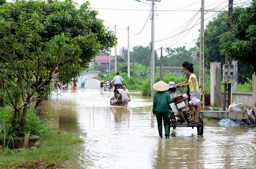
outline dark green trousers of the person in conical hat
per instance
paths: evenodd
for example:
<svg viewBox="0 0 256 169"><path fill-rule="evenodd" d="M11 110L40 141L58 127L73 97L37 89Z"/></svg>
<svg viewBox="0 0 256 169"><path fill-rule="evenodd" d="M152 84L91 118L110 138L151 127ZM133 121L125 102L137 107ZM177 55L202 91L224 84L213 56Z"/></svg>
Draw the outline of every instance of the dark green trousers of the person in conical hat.
<svg viewBox="0 0 256 169"><path fill-rule="evenodd" d="M169 112L165 113L155 113L155 116L157 117L157 127L159 136L163 136L163 126L165 126L165 134L169 134ZM163 121L163 125L162 125Z"/></svg>

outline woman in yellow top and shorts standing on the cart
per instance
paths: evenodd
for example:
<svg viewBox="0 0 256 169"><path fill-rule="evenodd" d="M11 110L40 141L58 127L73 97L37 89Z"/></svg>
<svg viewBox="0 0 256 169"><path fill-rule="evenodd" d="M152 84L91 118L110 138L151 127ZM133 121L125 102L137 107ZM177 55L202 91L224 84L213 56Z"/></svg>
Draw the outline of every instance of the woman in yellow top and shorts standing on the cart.
<svg viewBox="0 0 256 169"><path fill-rule="evenodd" d="M194 72L193 64L190 63L186 67L186 73L189 75L188 83L181 84L180 87L189 86L189 90L190 90L189 94L190 94L191 99L193 97L196 97L197 99L199 99L200 91L199 91L196 75L193 74L193 72ZM196 111L196 118L194 119L195 111ZM193 113L192 113L191 118L190 118L189 121L191 122L191 124L199 123L199 107L193 107L192 112Z"/></svg>

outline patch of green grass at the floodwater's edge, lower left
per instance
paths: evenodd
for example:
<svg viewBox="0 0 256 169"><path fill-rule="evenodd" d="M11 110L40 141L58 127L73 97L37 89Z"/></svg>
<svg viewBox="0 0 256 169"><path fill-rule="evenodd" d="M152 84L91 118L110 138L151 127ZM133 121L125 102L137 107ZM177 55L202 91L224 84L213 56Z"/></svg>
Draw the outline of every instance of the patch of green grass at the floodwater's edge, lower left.
<svg viewBox="0 0 256 169"><path fill-rule="evenodd" d="M76 164L76 156L82 139L64 131L49 130L30 149L0 149L0 168L18 168L27 162L60 164L71 168Z"/></svg>

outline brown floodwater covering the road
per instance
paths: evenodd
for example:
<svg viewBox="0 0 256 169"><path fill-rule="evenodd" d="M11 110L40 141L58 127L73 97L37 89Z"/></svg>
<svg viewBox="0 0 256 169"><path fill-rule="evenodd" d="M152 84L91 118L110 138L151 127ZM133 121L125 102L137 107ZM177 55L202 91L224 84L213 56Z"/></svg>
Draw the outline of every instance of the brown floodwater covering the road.
<svg viewBox="0 0 256 169"><path fill-rule="evenodd" d="M129 89L129 86L127 86ZM132 93L127 107L110 106L112 91L99 91L87 78L77 91L53 93L45 110L60 129L83 140L78 168L169 169L256 168L256 129L222 127L207 121L204 134L196 128L171 129L170 139L158 137L150 97Z"/></svg>

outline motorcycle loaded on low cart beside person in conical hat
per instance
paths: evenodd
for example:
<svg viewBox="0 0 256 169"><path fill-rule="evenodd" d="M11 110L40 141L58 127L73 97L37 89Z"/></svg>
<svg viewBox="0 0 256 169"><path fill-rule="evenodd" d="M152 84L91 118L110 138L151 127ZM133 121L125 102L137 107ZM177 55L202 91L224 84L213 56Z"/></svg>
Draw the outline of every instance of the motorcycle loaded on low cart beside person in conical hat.
<svg viewBox="0 0 256 169"><path fill-rule="evenodd" d="M173 127L173 129L176 127L192 127L192 129L196 127L197 135L203 135L204 125L202 116L199 115L199 123L191 124L189 117L191 117L192 108L188 100L174 87L169 89L169 93L171 98L178 95L174 103L169 105L169 131L170 127Z"/></svg>

